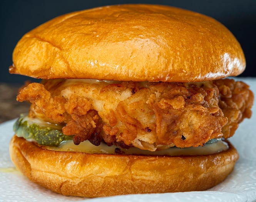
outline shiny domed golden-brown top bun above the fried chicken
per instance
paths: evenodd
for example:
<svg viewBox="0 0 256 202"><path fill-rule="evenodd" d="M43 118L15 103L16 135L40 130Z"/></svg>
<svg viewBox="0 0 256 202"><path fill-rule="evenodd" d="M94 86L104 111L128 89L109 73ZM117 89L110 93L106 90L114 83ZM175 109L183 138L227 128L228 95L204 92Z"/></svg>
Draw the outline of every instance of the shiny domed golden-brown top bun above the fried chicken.
<svg viewBox="0 0 256 202"><path fill-rule="evenodd" d="M236 38L210 17L163 5L115 5L62 15L28 32L10 73L190 82L236 76L245 65Z"/></svg>

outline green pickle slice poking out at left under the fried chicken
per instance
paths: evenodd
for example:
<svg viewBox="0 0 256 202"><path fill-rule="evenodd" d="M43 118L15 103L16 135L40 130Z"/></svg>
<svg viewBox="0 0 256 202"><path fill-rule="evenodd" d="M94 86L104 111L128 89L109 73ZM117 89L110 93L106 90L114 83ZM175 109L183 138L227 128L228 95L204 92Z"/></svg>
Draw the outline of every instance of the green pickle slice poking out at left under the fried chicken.
<svg viewBox="0 0 256 202"><path fill-rule="evenodd" d="M59 146L61 142L72 140L73 136L66 136L62 131L54 129L53 127L39 126L28 120L23 114L13 125L13 131L18 137L36 141L38 144L45 146Z"/></svg>

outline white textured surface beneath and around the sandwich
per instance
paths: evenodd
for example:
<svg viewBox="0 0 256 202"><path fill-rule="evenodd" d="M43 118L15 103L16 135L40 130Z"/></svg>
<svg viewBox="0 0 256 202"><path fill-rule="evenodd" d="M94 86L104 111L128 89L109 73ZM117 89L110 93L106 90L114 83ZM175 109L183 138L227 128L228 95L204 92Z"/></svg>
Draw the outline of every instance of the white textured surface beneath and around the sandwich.
<svg viewBox="0 0 256 202"><path fill-rule="evenodd" d="M256 95L256 79L239 79L251 86ZM11 113L11 112L10 112ZM166 202L166 201L200 201L200 202L255 202L256 201L256 106L253 116L240 124L236 134L230 138L240 155L234 171L221 184L203 192L178 192L165 194L134 194L115 197L87 199L67 197L44 189L30 182L13 166L9 157L9 142L13 136L14 120L0 124L0 202L57 202L83 201L91 202Z"/></svg>

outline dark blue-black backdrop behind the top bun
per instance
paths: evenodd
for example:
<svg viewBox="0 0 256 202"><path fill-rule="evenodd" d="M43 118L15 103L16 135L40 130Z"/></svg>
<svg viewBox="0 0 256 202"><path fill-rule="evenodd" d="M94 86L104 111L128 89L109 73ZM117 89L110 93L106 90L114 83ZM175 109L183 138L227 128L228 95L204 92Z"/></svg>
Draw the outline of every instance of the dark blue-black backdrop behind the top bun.
<svg viewBox="0 0 256 202"><path fill-rule="evenodd" d="M1 0L0 82L23 83L30 79L8 73L8 67L12 65L12 51L26 32L64 13L123 3L172 5L215 18L231 30L244 50L247 65L241 76L256 76L256 0Z"/></svg>

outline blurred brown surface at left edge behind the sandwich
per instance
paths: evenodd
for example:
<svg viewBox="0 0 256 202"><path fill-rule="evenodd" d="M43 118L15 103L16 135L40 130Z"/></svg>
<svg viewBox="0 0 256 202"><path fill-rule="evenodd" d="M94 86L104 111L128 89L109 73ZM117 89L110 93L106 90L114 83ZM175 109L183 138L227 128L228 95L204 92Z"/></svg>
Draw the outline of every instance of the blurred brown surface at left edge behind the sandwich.
<svg viewBox="0 0 256 202"><path fill-rule="evenodd" d="M20 113L28 113L30 104L16 101L21 86L0 83L0 123L18 118Z"/></svg>

